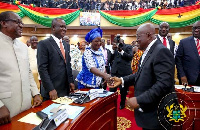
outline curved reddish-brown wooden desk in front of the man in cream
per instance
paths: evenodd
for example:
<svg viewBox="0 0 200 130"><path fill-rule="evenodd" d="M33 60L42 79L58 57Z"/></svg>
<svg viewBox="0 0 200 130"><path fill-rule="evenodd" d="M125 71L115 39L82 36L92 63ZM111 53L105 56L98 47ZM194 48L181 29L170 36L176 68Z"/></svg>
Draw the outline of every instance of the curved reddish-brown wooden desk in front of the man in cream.
<svg viewBox="0 0 200 130"><path fill-rule="evenodd" d="M62 123L57 129L63 130L116 130L117 129L117 92L104 98L95 99L84 106L85 109L74 120L69 119L69 125ZM18 120L30 112L38 112L46 108L52 101L45 101L41 106L31 108L12 118L12 122L0 126L0 130L31 130L35 125L19 122ZM77 105L72 103L71 105ZM30 119L31 120L31 119Z"/></svg>

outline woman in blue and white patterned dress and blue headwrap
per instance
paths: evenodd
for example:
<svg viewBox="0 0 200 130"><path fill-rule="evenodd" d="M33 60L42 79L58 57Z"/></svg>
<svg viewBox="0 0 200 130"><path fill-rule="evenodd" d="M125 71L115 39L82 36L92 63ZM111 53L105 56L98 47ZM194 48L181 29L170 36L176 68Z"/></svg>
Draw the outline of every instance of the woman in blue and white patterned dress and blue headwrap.
<svg viewBox="0 0 200 130"><path fill-rule="evenodd" d="M78 89L99 88L101 80L110 78L105 73L105 60L100 49L102 30L100 28L92 29L85 36L85 40L91 45L87 47L82 56L82 71L78 74Z"/></svg>

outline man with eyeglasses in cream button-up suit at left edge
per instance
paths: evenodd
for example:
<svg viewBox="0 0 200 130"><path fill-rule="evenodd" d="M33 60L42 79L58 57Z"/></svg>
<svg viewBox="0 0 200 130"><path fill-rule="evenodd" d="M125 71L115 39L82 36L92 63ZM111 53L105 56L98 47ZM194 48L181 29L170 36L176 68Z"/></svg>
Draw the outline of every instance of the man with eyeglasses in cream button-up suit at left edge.
<svg viewBox="0 0 200 130"><path fill-rule="evenodd" d="M28 48L16 38L23 23L14 12L0 14L0 125L22 111L41 104L37 85L29 66Z"/></svg>

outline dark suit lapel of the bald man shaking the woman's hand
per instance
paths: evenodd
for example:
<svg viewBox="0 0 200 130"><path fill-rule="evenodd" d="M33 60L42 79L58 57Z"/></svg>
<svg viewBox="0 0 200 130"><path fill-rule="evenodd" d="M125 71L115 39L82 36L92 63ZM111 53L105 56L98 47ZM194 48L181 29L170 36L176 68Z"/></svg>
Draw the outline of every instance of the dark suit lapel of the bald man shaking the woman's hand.
<svg viewBox="0 0 200 130"><path fill-rule="evenodd" d="M140 73L142 72L143 68L144 68L144 65L145 63L147 62L147 60L149 59L149 57L151 57L151 54L155 48L155 46L160 43L158 40L156 40L156 42L151 46L150 50L148 51L147 55L145 56L144 58L144 61L142 62L142 66L139 67L138 69L138 72L136 74L136 78L135 78L135 81L137 81L138 77L140 76ZM141 59L140 59L140 62L141 62Z"/></svg>

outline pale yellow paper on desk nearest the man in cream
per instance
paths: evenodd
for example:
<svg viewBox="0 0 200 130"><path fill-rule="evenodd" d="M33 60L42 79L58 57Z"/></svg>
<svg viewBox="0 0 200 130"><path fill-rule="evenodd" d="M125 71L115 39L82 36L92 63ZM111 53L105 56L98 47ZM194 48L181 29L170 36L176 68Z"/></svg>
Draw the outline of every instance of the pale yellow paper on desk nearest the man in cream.
<svg viewBox="0 0 200 130"><path fill-rule="evenodd" d="M26 116L22 117L18 121L34 124L34 125L39 125L42 122L42 120L36 115L36 113L33 113L33 112L27 114Z"/></svg>

